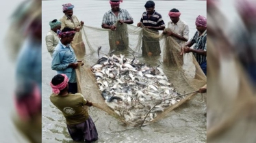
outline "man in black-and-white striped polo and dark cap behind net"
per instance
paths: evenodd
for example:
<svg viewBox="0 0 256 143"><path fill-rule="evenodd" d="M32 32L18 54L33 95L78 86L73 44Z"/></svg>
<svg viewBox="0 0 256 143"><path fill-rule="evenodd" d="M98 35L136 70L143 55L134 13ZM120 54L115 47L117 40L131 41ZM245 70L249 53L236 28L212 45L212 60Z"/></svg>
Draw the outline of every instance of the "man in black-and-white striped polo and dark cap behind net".
<svg viewBox="0 0 256 143"><path fill-rule="evenodd" d="M144 5L146 12L143 12L140 22L137 26L141 27L144 25L146 28L143 32L142 37L142 55L159 55L161 53L161 48L159 44L159 30L165 29L164 20L162 15L155 12L154 1L146 1Z"/></svg>

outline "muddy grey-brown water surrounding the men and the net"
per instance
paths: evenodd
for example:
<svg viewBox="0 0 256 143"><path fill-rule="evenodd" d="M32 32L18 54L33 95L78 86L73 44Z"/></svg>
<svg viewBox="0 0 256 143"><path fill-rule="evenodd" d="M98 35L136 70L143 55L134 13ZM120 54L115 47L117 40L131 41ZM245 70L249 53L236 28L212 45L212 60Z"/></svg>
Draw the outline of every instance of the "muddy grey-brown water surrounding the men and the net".
<svg viewBox="0 0 256 143"><path fill-rule="evenodd" d="M139 22L145 2L124 1L120 4L121 8L128 10L133 16L133 25ZM44 36L49 31L49 21L63 16L63 3L70 1L42 1L42 142L73 142L66 129L64 116L49 101L49 82L56 72L51 70L51 56L44 41ZM72 4L75 5L74 15L79 20L84 20L85 25L92 27L101 27L103 14L110 10L108 1L72 1ZM168 11L173 7L181 11L182 20L188 23L191 38L196 31L196 16L206 16L205 1L155 1L155 10L162 14L166 24L169 21ZM177 69L161 65L160 57L138 58L143 63L160 65L179 93L192 91ZM98 55L92 54L85 59L92 64L97 61ZM196 95L166 114L162 120L142 128L126 127L116 118L94 107L89 112L98 129L97 142L206 142L206 118L203 115L205 102L201 95Z"/></svg>

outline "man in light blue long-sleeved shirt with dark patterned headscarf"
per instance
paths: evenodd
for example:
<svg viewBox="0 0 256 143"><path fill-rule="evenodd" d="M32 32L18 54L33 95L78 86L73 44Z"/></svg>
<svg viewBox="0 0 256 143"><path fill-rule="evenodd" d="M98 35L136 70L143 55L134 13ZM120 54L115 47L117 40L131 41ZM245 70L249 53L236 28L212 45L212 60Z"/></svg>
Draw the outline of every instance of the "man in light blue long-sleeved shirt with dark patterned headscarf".
<svg viewBox="0 0 256 143"><path fill-rule="evenodd" d="M66 74L68 76L68 92L77 93L77 79L75 69L78 67L75 52L71 47L71 42L75 36L75 31L68 27L57 31L60 42L53 52L53 61L51 69L56 70L57 74Z"/></svg>

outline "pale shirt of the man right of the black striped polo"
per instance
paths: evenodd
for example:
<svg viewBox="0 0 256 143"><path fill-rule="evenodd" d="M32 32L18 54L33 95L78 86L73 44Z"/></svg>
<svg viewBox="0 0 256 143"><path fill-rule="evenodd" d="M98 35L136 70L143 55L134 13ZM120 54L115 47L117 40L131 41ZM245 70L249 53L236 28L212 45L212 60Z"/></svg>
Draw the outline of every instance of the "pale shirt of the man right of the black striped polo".
<svg viewBox="0 0 256 143"><path fill-rule="evenodd" d="M172 32L177 33L178 35L183 36L185 39L188 39L188 35L190 33L190 29L188 28L188 25L183 22L183 20L179 20L177 23L174 23L172 21L168 22L168 29L171 29ZM177 37L173 36L173 39L182 46L186 42L183 40L178 39Z"/></svg>

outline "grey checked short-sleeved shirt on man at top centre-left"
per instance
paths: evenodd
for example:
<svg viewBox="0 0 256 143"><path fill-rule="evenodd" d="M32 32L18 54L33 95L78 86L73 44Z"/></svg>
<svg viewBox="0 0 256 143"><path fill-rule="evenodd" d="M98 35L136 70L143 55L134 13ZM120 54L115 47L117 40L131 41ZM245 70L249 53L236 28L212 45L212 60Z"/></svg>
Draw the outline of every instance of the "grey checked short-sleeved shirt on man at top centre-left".
<svg viewBox="0 0 256 143"><path fill-rule="evenodd" d="M102 24L115 25L118 20L133 20L133 18L127 10L120 8L118 16L112 10L106 12L103 16Z"/></svg>

